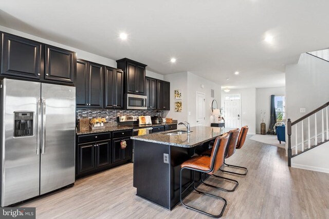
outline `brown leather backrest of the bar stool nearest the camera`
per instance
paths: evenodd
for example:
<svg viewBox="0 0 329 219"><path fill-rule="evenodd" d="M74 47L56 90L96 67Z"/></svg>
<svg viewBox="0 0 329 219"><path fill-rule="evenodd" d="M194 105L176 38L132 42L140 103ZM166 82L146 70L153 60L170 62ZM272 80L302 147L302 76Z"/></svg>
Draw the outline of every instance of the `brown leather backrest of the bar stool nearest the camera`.
<svg viewBox="0 0 329 219"><path fill-rule="evenodd" d="M210 156L209 168L212 170L208 174L215 173L224 164L224 153L227 146L229 134L225 133L216 138L214 148Z"/></svg>

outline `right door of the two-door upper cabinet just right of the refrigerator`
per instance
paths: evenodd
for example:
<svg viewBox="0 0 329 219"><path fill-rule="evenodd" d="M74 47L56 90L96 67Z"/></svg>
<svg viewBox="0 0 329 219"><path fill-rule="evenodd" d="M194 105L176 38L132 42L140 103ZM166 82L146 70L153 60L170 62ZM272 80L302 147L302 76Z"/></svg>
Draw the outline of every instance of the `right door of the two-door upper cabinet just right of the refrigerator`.
<svg viewBox="0 0 329 219"><path fill-rule="evenodd" d="M89 108L103 108L103 94L104 94L104 75L103 68L104 66L90 63L89 68Z"/></svg>

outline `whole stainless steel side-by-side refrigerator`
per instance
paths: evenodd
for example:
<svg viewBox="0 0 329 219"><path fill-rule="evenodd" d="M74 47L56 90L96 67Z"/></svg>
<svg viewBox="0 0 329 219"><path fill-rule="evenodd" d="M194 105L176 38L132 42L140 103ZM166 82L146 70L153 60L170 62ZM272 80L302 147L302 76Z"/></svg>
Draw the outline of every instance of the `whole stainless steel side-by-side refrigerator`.
<svg viewBox="0 0 329 219"><path fill-rule="evenodd" d="M1 206L75 182L75 87L1 82Z"/></svg>

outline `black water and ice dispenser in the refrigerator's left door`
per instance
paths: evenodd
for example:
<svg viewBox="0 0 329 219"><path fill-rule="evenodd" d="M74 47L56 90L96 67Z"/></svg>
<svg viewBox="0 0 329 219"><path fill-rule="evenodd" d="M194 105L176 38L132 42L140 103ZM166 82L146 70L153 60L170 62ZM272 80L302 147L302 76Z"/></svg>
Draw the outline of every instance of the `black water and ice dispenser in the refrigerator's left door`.
<svg viewBox="0 0 329 219"><path fill-rule="evenodd" d="M33 112L14 112L14 137L33 135Z"/></svg>

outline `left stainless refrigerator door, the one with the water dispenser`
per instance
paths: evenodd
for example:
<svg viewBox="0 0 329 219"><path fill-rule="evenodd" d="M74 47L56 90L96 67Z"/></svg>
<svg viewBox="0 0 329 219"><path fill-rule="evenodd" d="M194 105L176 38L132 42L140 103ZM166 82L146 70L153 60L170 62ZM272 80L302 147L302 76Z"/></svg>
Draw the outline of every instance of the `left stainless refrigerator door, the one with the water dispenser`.
<svg viewBox="0 0 329 219"><path fill-rule="evenodd" d="M37 82L3 80L2 101L2 192L1 206L8 206L39 195L40 155L38 154ZM14 112L33 113L32 135L14 137ZM21 115L24 115L24 113ZM26 121L17 129L24 130ZM31 125L31 124L30 124Z"/></svg>

